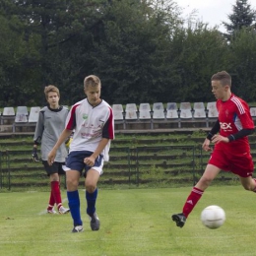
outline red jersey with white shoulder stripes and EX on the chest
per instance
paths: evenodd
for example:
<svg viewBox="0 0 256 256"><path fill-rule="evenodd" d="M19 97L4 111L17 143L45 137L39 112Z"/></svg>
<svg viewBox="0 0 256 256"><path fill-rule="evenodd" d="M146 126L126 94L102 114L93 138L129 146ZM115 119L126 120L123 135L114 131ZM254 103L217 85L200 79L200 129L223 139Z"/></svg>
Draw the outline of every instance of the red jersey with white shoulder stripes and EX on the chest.
<svg viewBox="0 0 256 256"><path fill-rule="evenodd" d="M224 137L235 134L242 129L254 129L254 122L250 114L248 104L238 96L233 94L226 100L217 100L219 111L220 134ZM219 143L218 147L228 147L232 152L249 150L248 137L237 139L230 143Z"/></svg>

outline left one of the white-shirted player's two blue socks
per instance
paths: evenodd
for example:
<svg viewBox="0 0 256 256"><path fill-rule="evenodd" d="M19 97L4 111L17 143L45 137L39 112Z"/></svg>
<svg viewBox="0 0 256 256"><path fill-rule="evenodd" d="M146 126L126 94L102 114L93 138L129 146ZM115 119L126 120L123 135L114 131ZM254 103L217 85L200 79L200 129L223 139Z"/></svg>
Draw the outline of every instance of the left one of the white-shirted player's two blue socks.
<svg viewBox="0 0 256 256"><path fill-rule="evenodd" d="M78 190L67 191L67 197L68 197L70 213L73 218L74 225L82 225L83 222L81 220L81 215L80 215L80 199L79 199Z"/></svg>

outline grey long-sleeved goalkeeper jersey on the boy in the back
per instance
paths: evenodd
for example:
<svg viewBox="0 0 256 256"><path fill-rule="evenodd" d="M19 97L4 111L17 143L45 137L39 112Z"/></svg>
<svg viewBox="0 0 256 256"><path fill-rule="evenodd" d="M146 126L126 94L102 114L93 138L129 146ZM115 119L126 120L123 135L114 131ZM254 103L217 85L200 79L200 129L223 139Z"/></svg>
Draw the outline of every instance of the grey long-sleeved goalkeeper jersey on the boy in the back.
<svg viewBox="0 0 256 256"><path fill-rule="evenodd" d="M34 142L41 143L41 160L48 159L49 152L65 129L68 112L69 109L65 106L60 106L58 109L52 109L49 106L41 108L33 136ZM64 162L66 157L67 149L63 143L57 151L55 161Z"/></svg>

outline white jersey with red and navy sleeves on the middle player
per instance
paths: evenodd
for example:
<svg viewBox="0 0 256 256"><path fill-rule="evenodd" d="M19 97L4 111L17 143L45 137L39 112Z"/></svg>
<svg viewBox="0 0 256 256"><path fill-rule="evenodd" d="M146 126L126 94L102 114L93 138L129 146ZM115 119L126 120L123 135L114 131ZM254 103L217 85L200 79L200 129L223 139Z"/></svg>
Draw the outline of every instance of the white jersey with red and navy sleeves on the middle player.
<svg viewBox="0 0 256 256"><path fill-rule="evenodd" d="M113 112L110 105L104 101L93 106L85 98L72 106L66 121L66 129L74 130L73 141L69 152L95 152L102 138L109 139L100 154L108 160L110 140L114 139Z"/></svg>

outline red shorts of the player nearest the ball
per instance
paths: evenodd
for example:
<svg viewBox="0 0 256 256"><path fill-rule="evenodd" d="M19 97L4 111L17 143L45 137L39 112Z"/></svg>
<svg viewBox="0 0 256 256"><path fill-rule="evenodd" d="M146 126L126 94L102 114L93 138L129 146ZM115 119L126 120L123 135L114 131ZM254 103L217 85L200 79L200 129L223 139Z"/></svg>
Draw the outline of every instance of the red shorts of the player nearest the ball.
<svg viewBox="0 0 256 256"><path fill-rule="evenodd" d="M252 176L254 169L253 160L249 151L230 153L224 147L215 149L208 163L224 171L231 171L240 177Z"/></svg>

